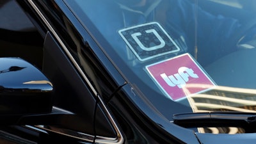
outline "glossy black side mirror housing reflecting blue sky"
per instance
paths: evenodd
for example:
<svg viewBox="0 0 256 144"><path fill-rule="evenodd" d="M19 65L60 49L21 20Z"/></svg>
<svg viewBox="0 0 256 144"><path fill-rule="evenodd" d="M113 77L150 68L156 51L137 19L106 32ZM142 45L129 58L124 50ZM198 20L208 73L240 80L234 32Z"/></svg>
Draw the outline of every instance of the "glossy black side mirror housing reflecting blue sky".
<svg viewBox="0 0 256 144"><path fill-rule="evenodd" d="M51 113L53 87L21 58L0 58L0 115Z"/></svg>

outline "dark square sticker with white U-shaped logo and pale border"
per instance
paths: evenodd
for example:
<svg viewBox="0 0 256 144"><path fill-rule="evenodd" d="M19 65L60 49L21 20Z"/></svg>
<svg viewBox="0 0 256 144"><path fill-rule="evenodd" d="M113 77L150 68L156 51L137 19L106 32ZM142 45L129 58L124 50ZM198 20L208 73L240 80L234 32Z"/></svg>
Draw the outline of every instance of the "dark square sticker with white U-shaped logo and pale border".
<svg viewBox="0 0 256 144"><path fill-rule="evenodd" d="M180 51L157 22L121 29L118 33L140 61Z"/></svg>

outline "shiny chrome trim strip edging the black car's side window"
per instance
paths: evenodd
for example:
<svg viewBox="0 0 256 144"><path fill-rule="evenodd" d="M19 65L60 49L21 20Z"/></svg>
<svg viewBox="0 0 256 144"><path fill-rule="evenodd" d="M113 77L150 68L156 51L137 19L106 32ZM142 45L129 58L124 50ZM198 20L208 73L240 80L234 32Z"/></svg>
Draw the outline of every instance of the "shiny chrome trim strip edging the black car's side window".
<svg viewBox="0 0 256 144"><path fill-rule="evenodd" d="M120 132L120 129L118 129L118 126L115 123L115 120L113 119L113 117L111 116L111 114L109 113L108 109L106 108L104 102L102 101L102 99L98 96L97 91L95 90L95 88L93 88L93 85L90 83L88 77L85 76L85 74L83 73L83 70L81 69L81 67L79 67L79 65L77 64L76 60L74 60L72 54L68 51L67 47L65 46L65 44L61 41L61 38L58 36L58 34L56 33L56 31L54 31L54 29L52 28L51 24L49 24L49 22L47 21L47 19L44 17L44 15L40 12L40 10L36 7L36 4L33 2L33 0L27 0L29 2L29 4L31 4L31 6L34 8L34 10L36 11L36 13L38 13L38 15L41 17L42 20L44 20L47 28L49 28L49 30L52 32L52 34L55 36L55 38L58 40L58 42L60 43L60 45L63 47L64 51L67 53L68 58L70 58L70 60L72 61L72 63L74 63L75 67L77 68L77 70L79 71L79 73L81 74L81 76L83 76L84 80L86 81L86 83L89 84L90 88L92 89L95 97L98 97L102 106L104 107L104 109L106 109L107 115L109 120L111 121L112 125L114 126L116 133L117 133L117 138L106 138L106 137L101 137L101 136L96 136L96 143L106 143L106 144L121 144L124 143L124 137L122 136L122 133ZM40 129L42 127L39 127ZM46 131L51 131L49 129L45 129ZM55 131L52 131L55 132ZM59 132L60 134L64 134L66 136L71 136L74 138L78 138L81 140L86 140L86 141L92 141L90 139L89 134L84 134L84 133L80 133L80 136L85 136L86 138L79 138L76 136L72 136L69 134L65 134L62 132Z"/></svg>

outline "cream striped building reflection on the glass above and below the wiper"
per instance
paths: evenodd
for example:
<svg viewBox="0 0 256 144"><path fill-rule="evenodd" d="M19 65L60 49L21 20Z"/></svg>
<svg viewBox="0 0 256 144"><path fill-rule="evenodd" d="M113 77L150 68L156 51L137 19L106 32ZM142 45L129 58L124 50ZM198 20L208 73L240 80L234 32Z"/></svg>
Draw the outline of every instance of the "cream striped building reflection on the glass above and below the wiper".
<svg viewBox="0 0 256 144"><path fill-rule="evenodd" d="M195 113L209 111L256 113L255 89L216 86L207 92L191 95L188 100ZM244 133L244 129L241 127L200 127L198 132L237 134Z"/></svg>

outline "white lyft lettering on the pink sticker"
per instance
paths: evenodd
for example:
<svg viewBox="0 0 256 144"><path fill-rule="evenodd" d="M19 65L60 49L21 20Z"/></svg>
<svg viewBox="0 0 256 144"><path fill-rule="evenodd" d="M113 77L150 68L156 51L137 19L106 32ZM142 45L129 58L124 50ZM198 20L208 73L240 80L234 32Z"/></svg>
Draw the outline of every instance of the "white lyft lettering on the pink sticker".
<svg viewBox="0 0 256 144"><path fill-rule="evenodd" d="M182 88L188 82L189 77L198 78L198 75L194 73L191 68L180 67L177 74L166 76L165 73L160 75L169 86L178 86Z"/></svg>

